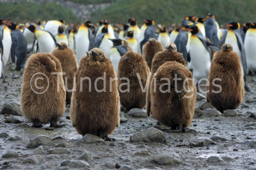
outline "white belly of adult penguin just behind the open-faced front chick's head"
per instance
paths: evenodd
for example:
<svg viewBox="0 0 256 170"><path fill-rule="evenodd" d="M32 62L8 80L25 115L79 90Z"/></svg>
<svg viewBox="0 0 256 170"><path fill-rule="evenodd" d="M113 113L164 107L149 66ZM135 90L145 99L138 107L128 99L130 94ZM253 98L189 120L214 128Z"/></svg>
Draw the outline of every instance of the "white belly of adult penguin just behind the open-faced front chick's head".
<svg viewBox="0 0 256 170"><path fill-rule="evenodd" d="M77 61L86 56L86 52L89 50L90 40L88 37L88 31L79 32L75 38L76 41L76 57Z"/></svg>

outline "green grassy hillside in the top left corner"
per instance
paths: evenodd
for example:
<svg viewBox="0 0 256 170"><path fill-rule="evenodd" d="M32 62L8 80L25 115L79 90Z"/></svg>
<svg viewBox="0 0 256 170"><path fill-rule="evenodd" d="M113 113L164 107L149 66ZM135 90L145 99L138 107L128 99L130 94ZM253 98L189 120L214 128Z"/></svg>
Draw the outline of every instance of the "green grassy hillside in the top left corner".
<svg viewBox="0 0 256 170"><path fill-rule="evenodd" d="M79 22L79 18L68 8L56 3L0 3L1 18L10 18L14 21L34 21L64 19L67 22Z"/></svg>

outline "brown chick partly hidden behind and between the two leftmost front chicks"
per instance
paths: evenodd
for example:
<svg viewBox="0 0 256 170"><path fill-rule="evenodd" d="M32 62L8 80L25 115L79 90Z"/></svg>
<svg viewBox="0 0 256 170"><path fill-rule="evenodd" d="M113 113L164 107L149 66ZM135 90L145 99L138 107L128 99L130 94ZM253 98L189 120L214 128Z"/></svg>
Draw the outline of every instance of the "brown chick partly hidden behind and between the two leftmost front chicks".
<svg viewBox="0 0 256 170"><path fill-rule="evenodd" d="M66 88L66 102L70 104L74 77L78 68L76 54L71 48L67 47L66 43L61 42L60 44L56 44L58 47L52 50L51 54L57 57L61 62L62 72L65 73L63 80Z"/></svg>

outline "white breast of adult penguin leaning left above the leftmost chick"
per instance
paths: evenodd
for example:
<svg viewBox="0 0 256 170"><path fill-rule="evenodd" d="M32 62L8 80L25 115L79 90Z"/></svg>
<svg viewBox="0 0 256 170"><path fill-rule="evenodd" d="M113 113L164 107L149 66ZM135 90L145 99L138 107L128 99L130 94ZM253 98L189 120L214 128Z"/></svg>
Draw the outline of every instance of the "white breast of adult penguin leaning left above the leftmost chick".
<svg viewBox="0 0 256 170"><path fill-rule="evenodd" d="M37 30L35 37L38 40L39 52L41 53L49 53L56 47L52 36L46 31Z"/></svg>

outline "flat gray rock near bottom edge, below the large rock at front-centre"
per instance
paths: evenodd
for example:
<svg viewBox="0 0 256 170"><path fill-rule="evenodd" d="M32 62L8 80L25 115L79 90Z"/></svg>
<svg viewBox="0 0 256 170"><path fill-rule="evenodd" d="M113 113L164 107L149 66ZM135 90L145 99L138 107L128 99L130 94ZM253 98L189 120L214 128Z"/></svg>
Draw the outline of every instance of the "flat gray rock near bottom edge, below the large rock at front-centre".
<svg viewBox="0 0 256 170"><path fill-rule="evenodd" d="M156 155L151 158L151 161L163 165L175 165L182 163L182 161L180 160L180 156L178 156L176 153Z"/></svg>

